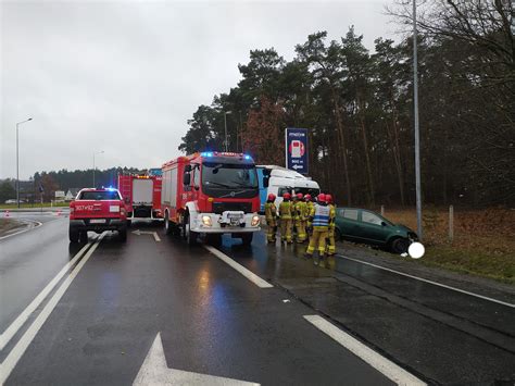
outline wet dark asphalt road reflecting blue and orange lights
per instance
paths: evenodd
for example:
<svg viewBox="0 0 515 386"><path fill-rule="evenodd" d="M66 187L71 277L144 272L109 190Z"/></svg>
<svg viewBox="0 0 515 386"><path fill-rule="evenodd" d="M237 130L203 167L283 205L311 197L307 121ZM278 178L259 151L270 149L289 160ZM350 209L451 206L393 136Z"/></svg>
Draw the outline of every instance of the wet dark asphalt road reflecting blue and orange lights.
<svg viewBox="0 0 515 386"><path fill-rule="evenodd" d="M302 247L266 245L262 234L251 249L225 238L228 260L273 286L260 288L159 227L134 229L161 240L129 234L122 244L108 233L96 242L90 234L79 251L66 219L51 219L0 240L3 336L71 265L1 351L7 385L130 385L148 369L263 385L391 384L385 363L428 383L515 381L512 307L343 257L335 270L315 267ZM380 361L359 358L306 315L323 316ZM147 368L161 343L165 369Z"/></svg>

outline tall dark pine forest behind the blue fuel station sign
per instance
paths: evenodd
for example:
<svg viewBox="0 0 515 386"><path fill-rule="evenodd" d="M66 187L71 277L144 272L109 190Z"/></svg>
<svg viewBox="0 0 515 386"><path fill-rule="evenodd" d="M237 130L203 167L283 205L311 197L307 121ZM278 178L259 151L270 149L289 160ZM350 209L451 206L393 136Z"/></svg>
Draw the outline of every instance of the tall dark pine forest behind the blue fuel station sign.
<svg viewBox="0 0 515 386"><path fill-rule="evenodd" d="M344 204L413 204L411 2L388 12L400 42L374 50L351 26L338 40L307 36L285 60L250 52L241 80L200 105L179 150L228 148L285 164L284 130L310 130L310 175ZM515 202L515 39L511 1L419 5L418 73L423 197L435 204Z"/></svg>

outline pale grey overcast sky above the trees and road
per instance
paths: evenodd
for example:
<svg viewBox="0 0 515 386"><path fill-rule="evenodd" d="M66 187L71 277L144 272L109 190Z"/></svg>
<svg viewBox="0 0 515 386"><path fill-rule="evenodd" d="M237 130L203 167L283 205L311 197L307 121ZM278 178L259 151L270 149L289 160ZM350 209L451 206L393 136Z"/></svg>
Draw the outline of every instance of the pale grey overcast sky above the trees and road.
<svg viewBox="0 0 515 386"><path fill-rule="evenodd" d="M377 1L1 1L0 178L179 154L187 120L240 79L249 51L285 59L309 34L393 37Z"/></svg>

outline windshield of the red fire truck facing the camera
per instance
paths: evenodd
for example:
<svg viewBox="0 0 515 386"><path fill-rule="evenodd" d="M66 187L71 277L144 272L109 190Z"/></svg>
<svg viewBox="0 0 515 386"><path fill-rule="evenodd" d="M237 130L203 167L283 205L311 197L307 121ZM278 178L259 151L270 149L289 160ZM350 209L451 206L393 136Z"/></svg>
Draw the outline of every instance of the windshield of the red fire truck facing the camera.
<svg viewBox="0 0 515 386"><path fill-rule="evenodd" d="M219 197L226 190L239 197L253 197L258 194L258 173L254 165L204 163L202 165L202 189ZM249 195L250 194L250 195Z"/></svg>

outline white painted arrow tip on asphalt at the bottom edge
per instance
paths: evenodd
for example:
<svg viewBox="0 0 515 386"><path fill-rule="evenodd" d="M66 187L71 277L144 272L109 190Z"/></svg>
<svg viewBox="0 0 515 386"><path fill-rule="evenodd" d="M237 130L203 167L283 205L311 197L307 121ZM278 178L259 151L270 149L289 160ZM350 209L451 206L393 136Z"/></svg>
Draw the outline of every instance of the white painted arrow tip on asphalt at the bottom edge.
<svg viewBox="0 0 515 386"><path fill-rule="evenodd" d="M133 383L134 386L147 385L214 385L214 386L246 386L254 385L252 382L225 378L208 374L193 373L184 370L168 369L164 356L161 333L158 333L149 353L145 358L141 369Z"/></svg>

